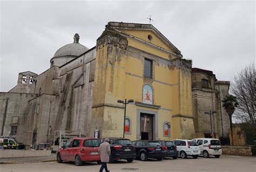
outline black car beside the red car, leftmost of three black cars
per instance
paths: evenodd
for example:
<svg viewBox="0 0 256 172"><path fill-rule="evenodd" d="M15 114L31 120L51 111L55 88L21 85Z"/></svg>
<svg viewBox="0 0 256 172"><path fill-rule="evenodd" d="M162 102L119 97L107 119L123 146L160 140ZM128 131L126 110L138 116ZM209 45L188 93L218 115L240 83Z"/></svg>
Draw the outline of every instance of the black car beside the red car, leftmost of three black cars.
<svg viewBox="0 0 256 172"><path fill-rule="evenodd" d="M132 145L131 140L125 138L109 138L110 140L110 163L116 160L127 160L132 162L135 159L135 147ZM101 139L104 142L104 139Z"/></svg>

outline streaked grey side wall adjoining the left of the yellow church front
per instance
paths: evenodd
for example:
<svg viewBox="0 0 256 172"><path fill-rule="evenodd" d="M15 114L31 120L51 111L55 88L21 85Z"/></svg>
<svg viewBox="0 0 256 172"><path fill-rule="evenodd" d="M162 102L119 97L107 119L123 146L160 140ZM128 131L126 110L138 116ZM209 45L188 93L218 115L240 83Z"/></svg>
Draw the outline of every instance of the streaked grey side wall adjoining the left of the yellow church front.
<svg viewBox="0 0 256 172"><path fill-rule="evenodd" d="M95 58L96 51L91 49L60 67L59 104L54 130L76 130L89 135Z"/></svg>

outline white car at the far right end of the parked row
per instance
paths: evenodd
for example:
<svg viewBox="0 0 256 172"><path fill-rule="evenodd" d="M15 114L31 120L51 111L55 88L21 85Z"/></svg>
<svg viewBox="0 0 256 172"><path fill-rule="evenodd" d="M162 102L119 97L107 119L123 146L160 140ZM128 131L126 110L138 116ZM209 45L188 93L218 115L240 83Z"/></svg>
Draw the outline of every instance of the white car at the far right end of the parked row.
<svg viewBox="0 0 256 172"><path fill-rule="evenodd" d="M197 138L193 140L198 143L201 153L204 157L209 157L210 155L213 155L218 158L222 154L219 139Z"/></svg>

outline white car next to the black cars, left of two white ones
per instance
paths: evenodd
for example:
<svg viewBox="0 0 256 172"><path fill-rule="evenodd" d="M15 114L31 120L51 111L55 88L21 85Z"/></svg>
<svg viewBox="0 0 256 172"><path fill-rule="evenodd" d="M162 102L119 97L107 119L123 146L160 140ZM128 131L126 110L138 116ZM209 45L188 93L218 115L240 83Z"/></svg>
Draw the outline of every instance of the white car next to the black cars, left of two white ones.
<svg viewBox="0 0 256 172"><path fill-rule="evenodd" d="M200 148L196 141L180 139L172 141L175 143L181 158L186 159L187 156L192 156L197 159L198 155L200 155Z"/></svg>

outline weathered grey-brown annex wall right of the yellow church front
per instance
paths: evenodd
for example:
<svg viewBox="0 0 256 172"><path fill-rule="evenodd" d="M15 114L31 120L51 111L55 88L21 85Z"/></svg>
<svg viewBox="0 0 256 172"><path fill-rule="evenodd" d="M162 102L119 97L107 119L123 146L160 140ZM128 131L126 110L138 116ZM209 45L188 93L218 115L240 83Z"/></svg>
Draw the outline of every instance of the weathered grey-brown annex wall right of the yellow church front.
<svg viewBox="0 0 256 172"><path fill-rule="evenodd" d="M220 102L228 95L230 82L215 81L215 75L212 71L206 71L205 73L192 72L191 78L194 128L197 135L211 133L210 115L204 113L216 111L217 113L212 114L212 131L217 137L228 136L229 119ZM201 79L209 81L208 88L202 88Z"/></svg>

